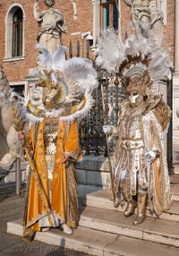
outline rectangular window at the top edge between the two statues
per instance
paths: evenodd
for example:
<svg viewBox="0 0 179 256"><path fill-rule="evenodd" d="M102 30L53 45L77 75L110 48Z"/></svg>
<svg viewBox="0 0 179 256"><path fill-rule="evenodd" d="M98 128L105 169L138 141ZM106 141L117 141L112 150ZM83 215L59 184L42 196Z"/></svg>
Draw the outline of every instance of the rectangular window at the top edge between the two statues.
<svg viewBox="0 0 179 256"><path fill-rule="evenodd" d="M118 29L118 10L116 0L101 0L100 1L100 27L106 30L108 27L113 27L115 31Z"/></svg>

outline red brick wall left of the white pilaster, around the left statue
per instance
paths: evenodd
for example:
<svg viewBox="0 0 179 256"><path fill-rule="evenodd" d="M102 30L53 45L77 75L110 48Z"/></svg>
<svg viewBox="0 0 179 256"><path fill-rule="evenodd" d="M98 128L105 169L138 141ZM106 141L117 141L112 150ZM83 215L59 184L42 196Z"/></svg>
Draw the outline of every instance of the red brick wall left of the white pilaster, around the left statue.
<svg viewBox="0 0 179 256"><path fill-rule="evenodd" d="M46 6L43 1L39 2L39 9L43 10ZM25 11L25 59L12 62L4 62L4 40L5 40L5 15L12 4L21 4ZM38 55L35 49L36 36L38 34L38 23L33 17L33 1L18 0L18 1L2 1L0 0L0 66L4 67L4 72L10 82L23 81L24 75L29 73L29 68L36 66L36 57ZM56 1L55 6L64 13L64 18L68 26L68 34L63 34L63 44L69 46L69 41L76 45L78 39L81 40L81 35L72 36L72 33L91 31L92 33L92 4L91 1L77 0L78 19L73 20L73 9L70 0ZM75 52L74 52L75 54Z"/></svg>

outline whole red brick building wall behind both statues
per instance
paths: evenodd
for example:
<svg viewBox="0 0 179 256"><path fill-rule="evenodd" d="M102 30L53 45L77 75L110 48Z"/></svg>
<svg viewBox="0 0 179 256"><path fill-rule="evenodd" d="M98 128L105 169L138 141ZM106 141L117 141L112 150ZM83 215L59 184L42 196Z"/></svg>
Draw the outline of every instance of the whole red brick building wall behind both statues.
<svg viewBox="0 0 179 256"><path fill-rule="evenodd" d="M45 8L43 1L39 0L39 9ZM165 37L167 45L171 48L171 56L174 56L174 0L167 0L167 24L164 27ZM5 28L4 18L9 7L12 4L21 4L26 14L25 20L25 59L21 61L3 62L4 59L4 39ZM38 34L38 24L33 17L33 3L30 0L18 0L18 1L4 1L0 0L0 65L4 66L4 72L7 75L10 82L23 81L24 75L29 73L29 68L36 66L36 57L38 55L37 49L35 49L36 36ZM64 18L68 26L68 34L63 34L63 44L69 46L69 41L76 45L76 41L81 40L81 32L90 31L92 34L93 27L93 14L92 14L92 0L76 0L78 19L73 20L73 9L70 0L56 1L55 6L64 13ZM131 22L131 8L121 0L122 4L122 34L123 38L125 32L131 34L132 22ZM72 33L78 33L72 35ZM75 55L75 52L74 52Z"/></svg>

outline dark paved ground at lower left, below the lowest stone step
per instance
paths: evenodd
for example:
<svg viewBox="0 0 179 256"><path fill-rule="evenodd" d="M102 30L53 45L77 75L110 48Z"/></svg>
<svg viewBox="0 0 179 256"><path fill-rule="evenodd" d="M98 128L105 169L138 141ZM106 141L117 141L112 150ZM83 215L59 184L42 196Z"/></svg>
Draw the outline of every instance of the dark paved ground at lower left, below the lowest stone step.
<svg viewBox="0 0 179 256"><path fill-rule="evenodd" d="M0 187L0 256L85 256L87 253L72 252L63 247L34 241L24 243L20 236L7 234L7 222L20 219L23 205L23 190L21 196L15 196L15 188Z"/></svg>

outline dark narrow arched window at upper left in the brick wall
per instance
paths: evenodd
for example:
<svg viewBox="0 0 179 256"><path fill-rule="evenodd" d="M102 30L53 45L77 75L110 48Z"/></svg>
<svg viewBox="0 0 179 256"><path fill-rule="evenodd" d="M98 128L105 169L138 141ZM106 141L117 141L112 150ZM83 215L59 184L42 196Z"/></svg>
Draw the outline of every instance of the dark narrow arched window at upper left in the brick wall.
<svg viewBox="0 0 179 256"><path fill-rule="evenodd" d="M21 8L13 15L13 57L22 55L22 11Z"/></svg>

